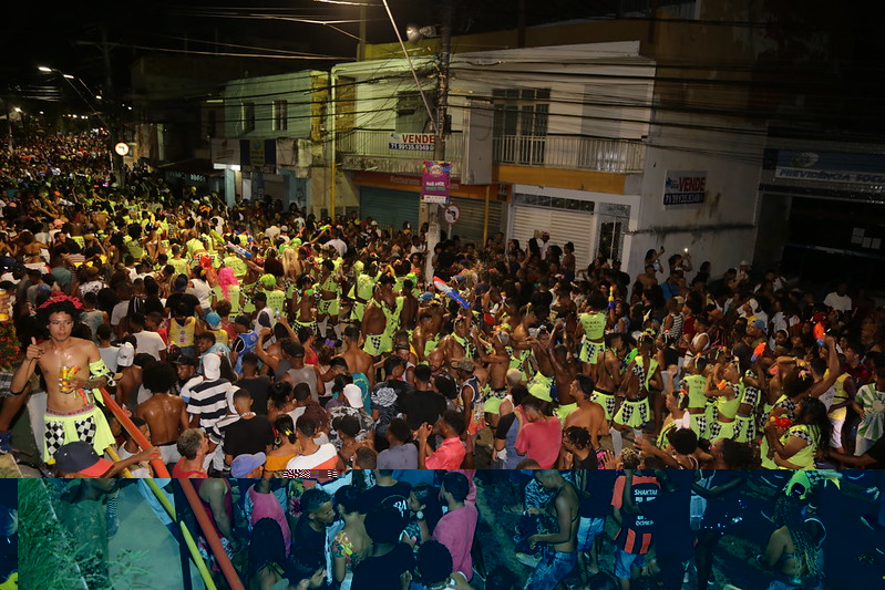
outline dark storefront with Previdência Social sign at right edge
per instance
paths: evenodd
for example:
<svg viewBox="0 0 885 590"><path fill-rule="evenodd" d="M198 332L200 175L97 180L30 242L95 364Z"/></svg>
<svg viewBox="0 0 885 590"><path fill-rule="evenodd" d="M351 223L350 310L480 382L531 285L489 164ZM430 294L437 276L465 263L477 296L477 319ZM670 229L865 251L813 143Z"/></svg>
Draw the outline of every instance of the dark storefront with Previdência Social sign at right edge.
<svg viewBox="0 0 885 590"><path fill-rule="evenodd" d="M881 154L766 149L755 261L812 282L885 289L883 170Z"/></svg>

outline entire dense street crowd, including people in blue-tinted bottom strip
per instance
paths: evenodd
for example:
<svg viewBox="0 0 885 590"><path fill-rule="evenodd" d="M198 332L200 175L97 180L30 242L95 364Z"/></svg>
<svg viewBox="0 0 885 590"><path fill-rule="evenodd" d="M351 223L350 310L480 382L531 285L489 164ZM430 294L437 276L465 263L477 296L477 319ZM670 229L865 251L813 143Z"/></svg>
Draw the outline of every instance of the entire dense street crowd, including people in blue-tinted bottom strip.
<svg viewBox="0 0 885 590"><path fill-rule="evenodd" d="M146 478L162 460L224 507L216 534L250 588L522 583L484 571L476 467L511 469L497 477L514 486L526 588L706 588L733 516L704 507L747 485L741 469L885 457L885 314L862 291L801 290L745 261L696 271L662 248L635 278L603 257L576 268L544 231L429 252L426 228L318 220L270 198L228 208L143 170L120 187L101 142L47 136L2 156L0 447L14 454L13 421L43 395L48 475ZM363 470L344 487L305 489L307 474L350 468ZM666 468L698 469L694 485ZM772 510L781 532L759 561L772 587L822 583L820 531L796 498L827 480L878 497L803 477ZM69 500L113 513L117 484L86 482ZM655 526L687 540L644 563Z"/></svg>

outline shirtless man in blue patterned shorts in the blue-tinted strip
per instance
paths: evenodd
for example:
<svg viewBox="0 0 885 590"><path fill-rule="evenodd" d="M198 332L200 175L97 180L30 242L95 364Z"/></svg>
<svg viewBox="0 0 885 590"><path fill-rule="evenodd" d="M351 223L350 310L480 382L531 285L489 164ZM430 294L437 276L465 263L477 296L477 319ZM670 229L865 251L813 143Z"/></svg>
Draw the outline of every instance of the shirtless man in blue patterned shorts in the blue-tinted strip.
<svg viewBox="0 0 885 590"><path fill-rule="evenodd" d="M545 511L557 522L557 531L547 535L532 535L528 546L534 548L539 542L549 544L553 559L545 558L535 568L526 581L526 588L556 588L577 566L578 562L578 528L580 526L580 510L578 493L575 486L563 478L556 469L538 469L535 479L544 487L545 491L553 493L547 500ZM537 508L529 511L541 513ZM546 551L545 551L546 553Z"/></svg>

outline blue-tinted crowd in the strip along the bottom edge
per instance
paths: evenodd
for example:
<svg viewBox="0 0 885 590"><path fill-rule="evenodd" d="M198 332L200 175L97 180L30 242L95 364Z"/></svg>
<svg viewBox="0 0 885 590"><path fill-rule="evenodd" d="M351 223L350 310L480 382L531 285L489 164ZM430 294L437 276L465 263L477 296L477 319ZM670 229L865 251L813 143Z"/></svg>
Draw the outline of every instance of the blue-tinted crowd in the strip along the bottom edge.
<svg viewBox="0 0 885 590"><path fill-rule="evenodd" d="M111 539L117 553L137 547L116 532L126 487L176 542L178 520L194 532L218 588L823 590L875 587L881 568L866 563L885 548L875 472L372 469L192 479L195 504L182 482L157 479L174 511L144 479L55 482L81 570L111 586Z"/></svg>

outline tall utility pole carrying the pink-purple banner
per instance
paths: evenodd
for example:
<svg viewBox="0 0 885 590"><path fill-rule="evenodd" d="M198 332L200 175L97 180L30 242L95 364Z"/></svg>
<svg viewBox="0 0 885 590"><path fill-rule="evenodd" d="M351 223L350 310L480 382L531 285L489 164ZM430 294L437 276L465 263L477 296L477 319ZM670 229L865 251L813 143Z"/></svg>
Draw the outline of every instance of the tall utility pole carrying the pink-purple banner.
<svg viewBox="0 0 885 590"><path fill-rule="evenodd" d="M445 132L449 115L449 62L452 51L452 0L442 0L442 25L440 28L440 69L436 73L436 113L435 135L433 138L433 159L445 159ZM433 250L440 242L440 206L435 203L428 204L428 251L424 263L424 276L430 282L433 279Z"/></svg>

